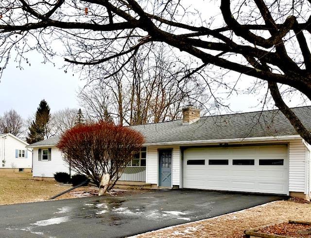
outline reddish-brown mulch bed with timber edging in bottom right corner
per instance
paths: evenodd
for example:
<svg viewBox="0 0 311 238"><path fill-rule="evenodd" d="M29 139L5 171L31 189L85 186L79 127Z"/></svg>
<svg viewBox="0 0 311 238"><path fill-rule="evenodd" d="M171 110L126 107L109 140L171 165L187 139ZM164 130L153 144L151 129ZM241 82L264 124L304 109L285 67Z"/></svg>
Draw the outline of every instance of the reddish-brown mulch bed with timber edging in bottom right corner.
<svg viewBox="0 0 311 238"><path fill-rule="evenodd" d="M311 225L283 222L280 224L261 228L257 232L288 237L311 238Z"/></svg>

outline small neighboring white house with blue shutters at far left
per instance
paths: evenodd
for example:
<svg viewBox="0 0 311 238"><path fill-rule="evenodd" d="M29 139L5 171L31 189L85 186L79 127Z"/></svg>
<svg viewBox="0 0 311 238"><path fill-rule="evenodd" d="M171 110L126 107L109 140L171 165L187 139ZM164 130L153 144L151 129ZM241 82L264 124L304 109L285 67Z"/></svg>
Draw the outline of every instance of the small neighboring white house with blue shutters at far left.
<svg viewBox="0 0 311 238"><path fill-rule="evenodd" d="M31 171L33 152L28 145L10 133L0 134L0 169Z"/></svg>

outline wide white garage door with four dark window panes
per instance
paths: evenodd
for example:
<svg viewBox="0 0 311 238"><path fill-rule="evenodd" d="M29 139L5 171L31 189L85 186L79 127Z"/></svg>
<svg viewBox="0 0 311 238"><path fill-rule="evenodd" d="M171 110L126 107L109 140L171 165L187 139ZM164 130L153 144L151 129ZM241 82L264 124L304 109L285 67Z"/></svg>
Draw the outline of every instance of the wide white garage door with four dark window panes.
<svg viewBox="0 0 311 238"><path fill-rule="evenodd" d="M288 194L287 145L184 150L185 188Z"/></svg>

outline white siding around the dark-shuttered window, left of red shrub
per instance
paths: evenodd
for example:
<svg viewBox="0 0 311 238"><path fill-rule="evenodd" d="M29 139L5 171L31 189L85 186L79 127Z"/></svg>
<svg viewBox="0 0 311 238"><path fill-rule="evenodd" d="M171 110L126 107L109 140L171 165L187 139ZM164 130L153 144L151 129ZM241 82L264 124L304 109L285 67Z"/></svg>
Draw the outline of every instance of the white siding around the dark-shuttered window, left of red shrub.
<svg viewBox="0 0 311 238"><path fill-rule="evenodd" d="M50 147L51 148L51 147ZM44 148L41 148L44 149ZM51 161L39 161L38 160L38 148L34 148L34 177L54 177L55 172L67 172L69 173L69 166L63 160L61 152L52 147Z"/></svg>

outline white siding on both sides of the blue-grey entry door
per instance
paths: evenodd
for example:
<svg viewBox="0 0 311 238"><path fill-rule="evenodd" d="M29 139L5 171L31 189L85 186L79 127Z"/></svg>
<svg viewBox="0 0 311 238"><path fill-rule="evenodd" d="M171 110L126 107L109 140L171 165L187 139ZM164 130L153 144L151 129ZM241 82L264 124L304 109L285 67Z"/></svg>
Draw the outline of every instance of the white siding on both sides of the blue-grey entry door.
<svg viewBox="0 0 311 238"><path fill-rule="evenodd" d="M148 146L147 148L147 169L146 183L158 184L158 150L173 149L172 158L172 183L178 185L180 182L180 148L179 146Z"/></svg>

